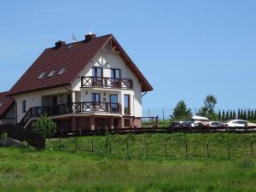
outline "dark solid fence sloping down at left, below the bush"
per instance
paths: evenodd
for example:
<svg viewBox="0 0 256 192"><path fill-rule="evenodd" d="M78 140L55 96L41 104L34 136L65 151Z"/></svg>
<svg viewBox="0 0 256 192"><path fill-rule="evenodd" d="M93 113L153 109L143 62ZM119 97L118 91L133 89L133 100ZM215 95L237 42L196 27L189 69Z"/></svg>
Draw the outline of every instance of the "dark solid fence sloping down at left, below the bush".
<svg viewBox="0 0 256 192"><path fill-rule="evenodd" d="M19 125L0 125L0 135L7 133L8 137L18 140L20 142L26 141L29 145L35 148L45 148L45 139L44 137L23 129Z"/></svg>

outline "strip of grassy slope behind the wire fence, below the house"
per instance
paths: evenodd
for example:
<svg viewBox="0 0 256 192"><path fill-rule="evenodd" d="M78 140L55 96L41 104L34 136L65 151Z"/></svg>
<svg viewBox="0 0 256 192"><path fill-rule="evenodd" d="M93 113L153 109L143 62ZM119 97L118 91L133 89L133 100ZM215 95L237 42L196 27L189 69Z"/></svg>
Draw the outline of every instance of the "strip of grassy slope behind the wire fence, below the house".
<svg viewBox="0 0 256 192"><path fill-rule="evenodd" d="M92 143L93 142L93 143ZM205 159L225 160L252 155L251 142L256 154L256 133L252 134L143 134L113 135L108 137L71 137L61 139L61 150L83 151L131 159ZM76 148L77 144L77 148ZM92 148L93 145L93 148ZM60 149L60 139L51 139L49 149ZM187 149L187 150L186 150ZM187 151L187 153L186 153Z"/></svg>

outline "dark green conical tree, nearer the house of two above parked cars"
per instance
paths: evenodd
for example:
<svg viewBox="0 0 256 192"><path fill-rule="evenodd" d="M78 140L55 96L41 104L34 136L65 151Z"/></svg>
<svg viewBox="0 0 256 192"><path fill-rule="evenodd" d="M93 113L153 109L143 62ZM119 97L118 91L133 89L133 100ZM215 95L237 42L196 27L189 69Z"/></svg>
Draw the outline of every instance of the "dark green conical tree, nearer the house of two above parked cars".
<svg viewBox="0 0 256 192"><path fill-rule="evenodd" d="M176 107L173 109L171 118L177 119L177 120L187 120L187 119L191 119L191 117L192 117L191 108L187 108L187 105L183 100L181 100L180 102L177 102Z"/></svg>

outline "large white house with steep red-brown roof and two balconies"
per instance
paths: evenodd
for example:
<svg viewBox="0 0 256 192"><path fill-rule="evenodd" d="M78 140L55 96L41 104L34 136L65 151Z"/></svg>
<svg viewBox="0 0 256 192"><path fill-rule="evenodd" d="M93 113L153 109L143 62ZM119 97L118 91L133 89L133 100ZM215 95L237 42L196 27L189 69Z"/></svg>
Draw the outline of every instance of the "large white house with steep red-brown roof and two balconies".
<svg viewBox="0 0 256 192"><path fill-rule="evenodd" d="M141 127L142 94L153 90L113 35L85 35L45 49L9 90L16 122L47 113L59 131Z"/></svg>

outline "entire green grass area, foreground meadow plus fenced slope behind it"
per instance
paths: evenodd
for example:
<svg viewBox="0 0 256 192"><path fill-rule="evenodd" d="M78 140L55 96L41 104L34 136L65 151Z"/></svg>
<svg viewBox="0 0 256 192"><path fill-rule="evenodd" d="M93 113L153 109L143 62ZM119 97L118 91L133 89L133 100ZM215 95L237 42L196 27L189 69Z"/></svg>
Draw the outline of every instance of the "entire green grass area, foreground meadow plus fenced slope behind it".
<svg viewBox="0 0 256 192"><path fill-rule="evenodd" d="M79 137L79 146L84 150L87 143L95 141L94 154L81 151L75 153L74 138L61 140L61 148L66 151L54 149L57 149L58 139L49 140L45 151L0 148L0 191L256 191L256 157L250 154L248 147L250 141L255 141L255 136L145 134ZM137 154L141 153L140 148L144 148L143 143L148 143L148 148L152 147L148 151L152 155L165 154L164 149L160 151L160 146L166 141L170 147L173 142L181 148L170 148L169 155L177 152L177 156L167 159L159 158L158 155L156 158L148 155L147 159L143 152L137 158L132 155L130 158L115 158L113 154L109 154L109 148L107 153L102 149L106 147L106 140L119 145L128 142L129 148ZM230 146L236 144L243 148L247 146L248 149L236 149L239 155L231 150L231 159L228 160L226 156L221 156L221 150L218 151L227 140L230 141ZM188 146L189 143L194 143L197 146L206 142L212 143L211 153L216 150L218 158L212 154L207 158L203 148L196 153L191 149L189 159L186 159L183 153L184 143L188 143ZM153 148L157 145L160 146ZM87 149L90 150L90 144ZM112 149L113 153L119 155L126 153L125 148L120 147L115 151L112 146ZM194 153L204 155L196 156Z"/></svg>

